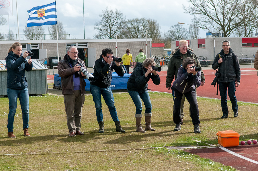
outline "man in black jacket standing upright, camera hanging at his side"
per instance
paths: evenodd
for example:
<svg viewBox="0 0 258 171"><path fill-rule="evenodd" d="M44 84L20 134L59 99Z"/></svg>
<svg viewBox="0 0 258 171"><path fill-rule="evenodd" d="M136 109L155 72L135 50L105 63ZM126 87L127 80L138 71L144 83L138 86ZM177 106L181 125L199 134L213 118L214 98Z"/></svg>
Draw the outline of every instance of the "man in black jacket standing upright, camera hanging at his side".
<svg viewBox="0 0 258 171"><path fill-rule="evenodd" d="M238 116L238 105L235 96L235 87L240 84L240 65L237 56L230 48L230 41L222 41L222 50L218 53L213 61L212 69L217 69L221 76L218 78L218 85L220 89L220 102L223 112L221 118L228 117L228 104L227 104L227 90L228 96L232 104L234 117Z"/></svg>

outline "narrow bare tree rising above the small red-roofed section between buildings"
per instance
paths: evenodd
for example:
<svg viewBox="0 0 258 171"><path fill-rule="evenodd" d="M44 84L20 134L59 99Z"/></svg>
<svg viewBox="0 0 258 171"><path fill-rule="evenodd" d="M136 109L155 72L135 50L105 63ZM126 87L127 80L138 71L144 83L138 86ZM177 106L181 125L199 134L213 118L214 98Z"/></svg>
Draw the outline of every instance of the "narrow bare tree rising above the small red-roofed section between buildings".
<svg viewBox="0 0 258 171"><path fill-rule="evenodd" d="M154 19L148 19L148 37L152 38L153 42L161 42L161 32L159 23Z"/></svg>

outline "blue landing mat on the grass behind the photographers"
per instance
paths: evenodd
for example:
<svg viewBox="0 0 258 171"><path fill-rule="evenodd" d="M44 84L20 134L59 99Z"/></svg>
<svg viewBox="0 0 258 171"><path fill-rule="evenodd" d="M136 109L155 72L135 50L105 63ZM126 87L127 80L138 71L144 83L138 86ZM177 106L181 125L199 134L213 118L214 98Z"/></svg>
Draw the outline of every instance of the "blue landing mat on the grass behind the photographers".
<svg viewBox="0 0 258 171"><path fill-rule="evenodd" d="M127 81L131 74L125 73L123 77L117 75L117 73L112 73L111 89L112 90L127 90ZM84 79L86 82L85 90L90 91L90 82L88 79ZM56 73L54 75L54 85L55 87L62 88L61 77Z"/></svg>

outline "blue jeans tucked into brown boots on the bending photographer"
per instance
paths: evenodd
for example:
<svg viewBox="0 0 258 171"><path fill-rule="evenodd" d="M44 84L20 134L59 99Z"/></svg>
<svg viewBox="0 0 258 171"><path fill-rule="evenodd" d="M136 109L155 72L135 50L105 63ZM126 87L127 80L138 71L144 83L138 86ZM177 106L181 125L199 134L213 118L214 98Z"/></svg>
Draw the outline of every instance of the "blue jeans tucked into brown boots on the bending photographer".
<svg viewBox="0 0 258 171"><path fill-rule="evenodd" d="M136 91L130 91L128 90L129 95L131 96L135 107L136 107L136 111L135 114L136 115L140 115L142 114L142 101L144 103L145 106L145 113L150 114L151 113L151 102L150 102L150 96L148 91L145 91L143 93L139 93ZM142 100L141 100L142 99Z"/></svg>

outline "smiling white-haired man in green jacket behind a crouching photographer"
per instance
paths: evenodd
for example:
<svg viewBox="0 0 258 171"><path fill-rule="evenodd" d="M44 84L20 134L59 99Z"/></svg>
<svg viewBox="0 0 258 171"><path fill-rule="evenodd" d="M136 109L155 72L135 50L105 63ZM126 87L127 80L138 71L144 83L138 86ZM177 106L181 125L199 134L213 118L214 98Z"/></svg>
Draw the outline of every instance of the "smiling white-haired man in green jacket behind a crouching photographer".
<svg viewBox="0 0 258 171"><path fill-rule="evenodd" d="M167 69L167 79L166 79L166 88L168 90L171 90L171 83L173 79L177 79L177 72L178 69L181 67L183 60L187 57L191 57L195 62L196 66L201 68L201 85L204 86L205 84L205 77L202 71L202 66L200 62L198 61L196 55L193 53L193 49L190 49L188 47L188 41L186 40L180 40L179 47L177 47L175 50L172 51L172 57L169 62L169 66ZM183 109L184 109L184 102L185 102L185 96L183 95L182 101L181 101L181 109L180 109L180 115L181 115L181 124L183 123ZM191 116L191 112L189 111L189 115Z"/></svg>

